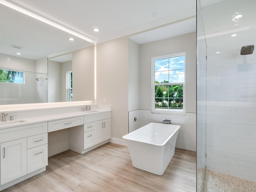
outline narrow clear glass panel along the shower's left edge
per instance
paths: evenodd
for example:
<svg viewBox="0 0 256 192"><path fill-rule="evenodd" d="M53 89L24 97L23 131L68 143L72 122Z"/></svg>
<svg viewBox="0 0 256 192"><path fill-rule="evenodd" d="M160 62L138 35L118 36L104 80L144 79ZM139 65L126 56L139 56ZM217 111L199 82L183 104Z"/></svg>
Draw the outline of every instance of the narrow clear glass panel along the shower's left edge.
<svg viewBox="0 0 256 192"><path fill-rule="evenodd" d="M206 41L200 0L197 1L197 191L204 192L206 177Z"/></svg>

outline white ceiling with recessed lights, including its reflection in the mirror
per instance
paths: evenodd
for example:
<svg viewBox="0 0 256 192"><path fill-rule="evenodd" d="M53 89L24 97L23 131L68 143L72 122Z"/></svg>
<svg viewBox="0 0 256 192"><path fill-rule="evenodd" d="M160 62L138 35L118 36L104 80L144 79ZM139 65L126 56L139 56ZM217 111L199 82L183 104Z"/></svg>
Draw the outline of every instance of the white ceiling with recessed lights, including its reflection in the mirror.
<svg viewBox="0 0 256 192"><path fill-rule="evenodd" d="M196 31L196 0L7 1L79 32L96 44L133 35L132 39L141 44ZM76 37L70 42L67 39L72 35L4 5L0 5L0 12L4 15L0 25L5 26L0 29L0 53L15 54L15 48L10 48L15 44L24 47L20 52L28 48L22 57L36 60L92 45Z"/></svg>

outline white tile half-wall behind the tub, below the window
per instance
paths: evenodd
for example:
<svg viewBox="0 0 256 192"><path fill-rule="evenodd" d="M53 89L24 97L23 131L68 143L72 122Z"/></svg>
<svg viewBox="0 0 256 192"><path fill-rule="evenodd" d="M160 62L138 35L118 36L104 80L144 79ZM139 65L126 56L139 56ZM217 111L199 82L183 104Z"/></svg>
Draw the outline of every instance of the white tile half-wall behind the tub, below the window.
<svg viewBox="0 0 256 192"><path fill-rule="evenodd" d="M134 115L137 115L137 123L134 124ZM136 110L129 112L129 131L136 130L151 122L162 123L163 118L172 119L172 124L180 125L176 147L196 151L196 114L186 115L156 114L151 110ZM139 124L138 124L139 123Z"/></svg>

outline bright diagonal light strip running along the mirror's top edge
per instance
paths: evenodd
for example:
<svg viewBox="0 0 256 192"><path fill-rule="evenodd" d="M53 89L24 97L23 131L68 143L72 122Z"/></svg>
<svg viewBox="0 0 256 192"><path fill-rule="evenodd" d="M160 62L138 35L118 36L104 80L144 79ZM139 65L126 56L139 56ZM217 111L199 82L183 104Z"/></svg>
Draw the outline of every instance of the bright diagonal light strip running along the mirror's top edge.
<svg viewBox="0 0 256 192"><path fill-rule="evenodd" d="M18 12L21 12L23 14L26 14L26 15L32 17L32 18L40 20L40 21L42 21L42 22L44 22L46 24L54 26L54 27L56 27L56 28L58 28L58 29L60 29L62 31L65 31L65 32L67 32L69 34L72 34L72 35L74 35L76 37L79 37L79 38L81 38L83 40L86 40L86 41L91 42L93 44L95 43L95 40L93 40L91 38L88 38L88 37L86 37L86 36L84 36L84 35L82 35L82 34L80 34L78 32L75 32L75 31L73 31L73 30L71 30L69 28L66 28L66 27L64 27L64 26L62 26L62 25L60 25L60 24L58 24L56 22L53 22L53 21L51 21L51 20L49 20L47 18L44 18L43 16L35 14L32 11L30 11L30 10L26 10L24 8L21 8L20 6L17 6L17 5L15 5L15 4L13 4L13 3L9 2L9 1L0 0L0 4L3 4L3 5L5 5L5 6L9 7L9 8L12 8L12 9L18 11Z"/></svg>

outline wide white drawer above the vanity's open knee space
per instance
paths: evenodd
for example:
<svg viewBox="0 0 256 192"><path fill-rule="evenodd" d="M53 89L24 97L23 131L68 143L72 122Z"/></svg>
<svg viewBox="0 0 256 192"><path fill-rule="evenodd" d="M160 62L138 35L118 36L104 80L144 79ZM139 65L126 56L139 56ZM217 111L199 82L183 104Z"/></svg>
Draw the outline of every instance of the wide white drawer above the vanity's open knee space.
<svg viewBox="0 0 256 192"><path fill-rule="evenodd" d="M84 124L84 116L66 118L48 122L48 132L66 129Z"/></svg>

